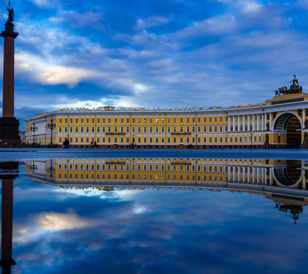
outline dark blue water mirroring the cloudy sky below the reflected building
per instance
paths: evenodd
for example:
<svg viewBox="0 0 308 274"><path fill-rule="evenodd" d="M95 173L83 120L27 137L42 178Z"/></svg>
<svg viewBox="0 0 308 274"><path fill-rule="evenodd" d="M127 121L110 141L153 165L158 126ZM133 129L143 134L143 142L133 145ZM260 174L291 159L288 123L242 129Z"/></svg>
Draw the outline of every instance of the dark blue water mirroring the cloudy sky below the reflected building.
<svg viewBox="0 0 308 274"><path fill-rule="evenodd" d="M13 274L307 273L306 206L294 220L266 195L218 185L70 189L32 181L28 170L19 162L14 179ZM292 179L295 167L288 172ZM294 191L308 197L305 187Z"/></svg>

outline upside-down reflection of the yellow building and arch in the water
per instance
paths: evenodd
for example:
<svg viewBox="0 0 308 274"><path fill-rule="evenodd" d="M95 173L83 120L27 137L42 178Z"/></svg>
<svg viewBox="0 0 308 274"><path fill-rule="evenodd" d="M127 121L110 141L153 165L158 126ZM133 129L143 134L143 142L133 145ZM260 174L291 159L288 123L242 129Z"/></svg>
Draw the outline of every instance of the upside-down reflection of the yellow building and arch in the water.
<svg viewBox="0 0 308 274"><path fill-rule="evenodd" d="M26 162L26 177L68 189L174 189L265 195L298 218L308 205L308 167L287 160L101 159Z"/></svg>

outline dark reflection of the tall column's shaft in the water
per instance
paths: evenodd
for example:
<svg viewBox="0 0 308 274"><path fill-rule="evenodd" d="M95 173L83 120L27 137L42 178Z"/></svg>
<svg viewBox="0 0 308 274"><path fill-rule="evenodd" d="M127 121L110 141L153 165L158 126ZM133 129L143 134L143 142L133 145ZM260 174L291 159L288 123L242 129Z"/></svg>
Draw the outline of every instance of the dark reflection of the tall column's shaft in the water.
<svg viewBox="0 0 308 274"><path fill-rule="evenodd" d="M13 179L2 179L1 253L2 273L11 273L13 237Z"/></svg>

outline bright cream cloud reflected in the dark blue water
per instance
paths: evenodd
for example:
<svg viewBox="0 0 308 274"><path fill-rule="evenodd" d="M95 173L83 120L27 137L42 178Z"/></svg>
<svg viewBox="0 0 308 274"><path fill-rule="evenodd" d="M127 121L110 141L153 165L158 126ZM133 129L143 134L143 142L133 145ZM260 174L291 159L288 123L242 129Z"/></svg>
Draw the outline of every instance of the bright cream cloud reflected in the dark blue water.
<svg viewBox="0 0 308 274"><path fill-rule="evenodd" d="M81 220L75 211L67 213L46 212L40 215L38 227L44 230L59 231L87 226L87 222Z"/></svg>

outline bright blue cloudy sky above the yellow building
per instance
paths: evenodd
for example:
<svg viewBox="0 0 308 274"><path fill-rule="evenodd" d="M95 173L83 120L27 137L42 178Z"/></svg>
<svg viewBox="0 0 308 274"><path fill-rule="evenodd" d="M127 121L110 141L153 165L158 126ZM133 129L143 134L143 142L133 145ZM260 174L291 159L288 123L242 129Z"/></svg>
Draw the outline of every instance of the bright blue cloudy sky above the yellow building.
<svg viewBox="0 0 308 274"><path fill-rule="evenodd" d="M63 107L261 103L293 74L308 88L307 0L11 4L21 120Z"/></svg>

